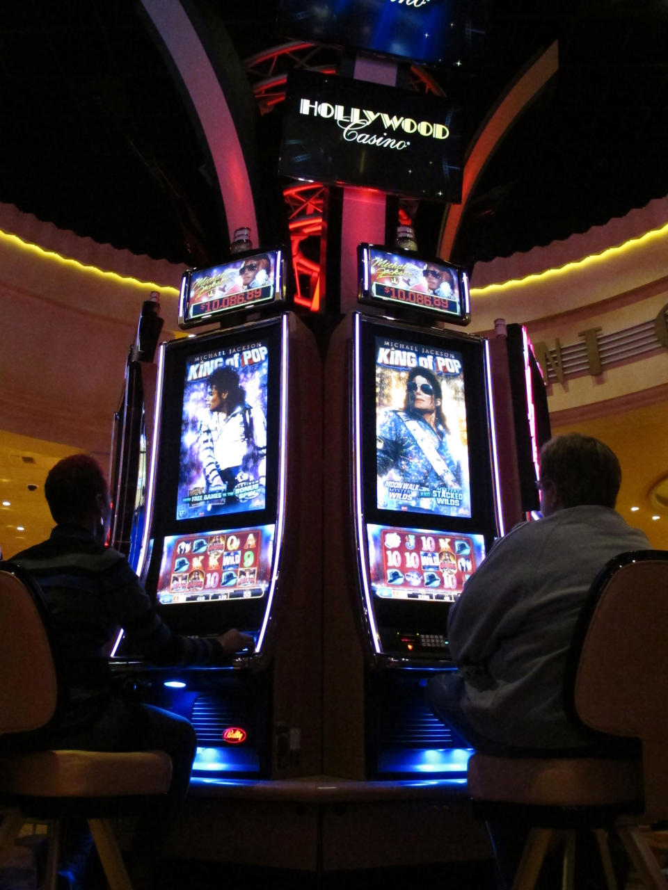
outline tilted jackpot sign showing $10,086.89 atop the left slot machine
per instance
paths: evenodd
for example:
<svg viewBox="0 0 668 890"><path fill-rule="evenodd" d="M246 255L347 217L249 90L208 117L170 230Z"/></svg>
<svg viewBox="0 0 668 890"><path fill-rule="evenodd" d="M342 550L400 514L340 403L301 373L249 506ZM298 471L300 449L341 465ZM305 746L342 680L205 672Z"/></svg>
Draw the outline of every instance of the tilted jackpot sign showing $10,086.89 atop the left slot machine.
<svg viewBox="0 0 668 890"><path fill-rule="evenodd" d="M185 272L179 325L209 324L230 312L282 300L283 272L281 249L238 255L228 263Z"/></svg>

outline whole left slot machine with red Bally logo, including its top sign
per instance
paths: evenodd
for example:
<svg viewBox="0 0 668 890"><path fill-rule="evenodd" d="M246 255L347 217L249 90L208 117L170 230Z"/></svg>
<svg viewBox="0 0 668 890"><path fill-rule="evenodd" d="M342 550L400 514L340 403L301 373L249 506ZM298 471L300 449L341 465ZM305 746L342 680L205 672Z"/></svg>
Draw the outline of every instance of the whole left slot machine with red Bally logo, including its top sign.
<svg viewBox="0 0 668 890"><path fill-rule="evenodd" d="M283 265L280 249L250 250L186 272L191 334L159 347L138 573L174 631L237 627L255 651L155 668L122 638L112 663L143 700L191 720L195 776L321 768L322 362L288 311Z"/></svg>

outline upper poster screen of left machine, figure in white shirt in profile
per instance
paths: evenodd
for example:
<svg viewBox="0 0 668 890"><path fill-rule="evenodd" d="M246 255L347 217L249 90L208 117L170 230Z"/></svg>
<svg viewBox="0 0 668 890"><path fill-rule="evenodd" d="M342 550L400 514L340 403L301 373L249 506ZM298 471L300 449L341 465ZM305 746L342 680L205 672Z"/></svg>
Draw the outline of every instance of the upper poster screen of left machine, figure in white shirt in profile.
<svg viewBox="0 0 668 890"><path fill-rule="evenodd" d="M264 510L269 342L185 360L177 521Z"/></svg>

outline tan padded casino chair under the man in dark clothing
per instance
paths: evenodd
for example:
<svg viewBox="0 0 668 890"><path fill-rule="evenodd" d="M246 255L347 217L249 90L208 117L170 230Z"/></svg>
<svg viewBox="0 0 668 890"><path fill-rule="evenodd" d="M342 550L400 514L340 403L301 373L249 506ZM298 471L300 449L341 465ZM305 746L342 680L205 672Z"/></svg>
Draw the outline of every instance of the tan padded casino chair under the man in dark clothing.
<svg viewBox="0 0 668 890"><path fill-rule="evenodd" d="M110 820L166 794L171 759L164 751L21 751L20 743L16 753L3 750L7 735L44 730L57 715L56 664L41 590L20 567L0 562L0 861L24 822L46 822L44 887L53 890L61 823L84 817L111 890L132 890Z"/></svg>

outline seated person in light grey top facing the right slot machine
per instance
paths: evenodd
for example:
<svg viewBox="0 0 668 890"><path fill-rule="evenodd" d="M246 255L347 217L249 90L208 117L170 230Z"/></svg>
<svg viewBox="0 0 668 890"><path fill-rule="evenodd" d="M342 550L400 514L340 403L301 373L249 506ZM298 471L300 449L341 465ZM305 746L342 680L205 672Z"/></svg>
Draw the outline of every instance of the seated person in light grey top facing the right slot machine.
<svg viewBox="0 0 668 890"><path fill-rule="evenodd" d="M540 465L542 519L510 530L469 578L448 617L459 669L428 684L437 716L486 754L591 746L562 700L575 621L608 560L651 547L615 512L622 471L603 442L557 436Z"/></svg>

